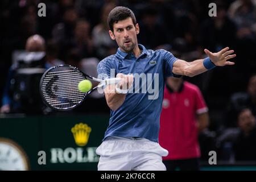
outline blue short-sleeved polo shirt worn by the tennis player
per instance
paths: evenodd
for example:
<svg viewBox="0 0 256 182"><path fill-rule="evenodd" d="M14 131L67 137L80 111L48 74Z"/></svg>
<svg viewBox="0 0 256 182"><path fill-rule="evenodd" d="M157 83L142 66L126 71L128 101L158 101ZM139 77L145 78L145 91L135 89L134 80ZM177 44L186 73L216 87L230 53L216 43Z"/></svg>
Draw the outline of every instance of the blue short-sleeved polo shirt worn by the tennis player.
<svg viewBox="0 0 256 182"><path fill-rule="evenodd" d="M122 52L118 48L115 55L102 60L97 67L98 77L106 78L106 75L109 78L115 77L117 73L126 75L129 73L143 75L144 73L147 78L146 86L151 86L151 88L158 86L158 89L154 88L158 93L152 93L152 90L144 93L142 86L145 85L142 81L139 81L137 87L134 82L134 87L139 90L135 92L134 89L133 93L129 91L123 104L115 111L110 110L109 126L104 139L109 136L140 137L158 142L164 84L166 77L175 76L172 73L172 65L177 58L164 49L153 51L141 44L138 46L142 50L138 58L133 53ZM111 69L114 75L110 75ZM155 84L156 81L158 84Z"/></svg>

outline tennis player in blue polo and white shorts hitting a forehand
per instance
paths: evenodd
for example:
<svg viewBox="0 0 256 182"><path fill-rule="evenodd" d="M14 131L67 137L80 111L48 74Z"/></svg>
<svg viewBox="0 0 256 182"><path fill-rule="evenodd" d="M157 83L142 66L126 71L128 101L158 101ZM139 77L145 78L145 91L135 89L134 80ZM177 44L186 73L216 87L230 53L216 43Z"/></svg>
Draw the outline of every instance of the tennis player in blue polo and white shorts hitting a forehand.
<svg viewBox="0 0 256 182"><path fill-rule="evenodd" d="M110 38L117 42L119 48L115 55L102 60L97 70L99 77L111 77L114 71L114 76L121 77L122 82L119 87L108 85L104 88L106 102L111 111L105 137L96 150L100 155L98 170L166 170L162 156L167 156L168 151L158 143L166 77L192 77L216 66L234 65L228 60L236 55L232 55L234 51L228 47L216 53L204 49L207 58L188 63L164 49L146 49L138 44L139 25L133 11L127 7L118 6L110 11L108 24ZM148 92L120 92L122 87L128 87L126 90L133 88L133 75L136 73L152 75L149 85L158 82L158 97L148 99ZM155 74L158 76L154 77Z"/></svg>

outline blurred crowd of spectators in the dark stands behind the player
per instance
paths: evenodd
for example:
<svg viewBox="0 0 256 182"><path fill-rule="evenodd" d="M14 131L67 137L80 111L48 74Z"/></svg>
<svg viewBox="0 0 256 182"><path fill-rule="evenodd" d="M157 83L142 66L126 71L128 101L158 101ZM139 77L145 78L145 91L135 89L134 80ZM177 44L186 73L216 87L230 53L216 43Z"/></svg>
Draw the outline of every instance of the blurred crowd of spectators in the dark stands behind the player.
<svg viewBox="0 0 256 182"><path fill-rule="evenodd" d="M40 2L46 4L46 17L38 16ZM208 14L212 2L217 5L216 17ZM209 108L210 126L199 138L202 158L209 157L204 151L217 150L223 160L256 160L255 0L3 0L0 2L1 113L36 113L31 108L20 110L14 103L21 97L15 93L15 80L11 78L16 69L68 64L97 77L99 61L117 50L117 44L109 37L106 19L110 10L119 5L134 11L140 27L138 42L147 49L164 48L187 61L206 57L204 48L216 52L228 46L235 50L233 67L212 69L184 80L199 86ZM43 64L32 66L30 61L24 61L28 58L20 59L22 51L43 53L23 56ZM18 78L32 79L20 75ZM19 89L24 87L20 85ZM36 95L23 91L26 98ZM38 105L35 101L30 99L26 104ZM75 111L87 114L97 108L97 112L109 113L102 95L95 94L88 102L91 107L82 105ZM43 109L43 114L51 113L47 109Z"/></svg>

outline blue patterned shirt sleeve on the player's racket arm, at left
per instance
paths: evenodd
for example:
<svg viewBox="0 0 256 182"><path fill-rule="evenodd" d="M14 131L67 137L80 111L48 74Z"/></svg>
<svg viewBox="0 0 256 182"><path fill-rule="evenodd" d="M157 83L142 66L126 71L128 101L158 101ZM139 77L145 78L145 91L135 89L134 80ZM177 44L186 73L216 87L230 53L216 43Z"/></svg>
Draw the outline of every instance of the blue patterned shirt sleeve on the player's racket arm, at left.
<svg viewBox="0 0 256 182"><path fill-rule="evenodd" d="M114 60L108 57L100 61L97 66L98 78L106 79L113 78L117 75Z"/></svg>

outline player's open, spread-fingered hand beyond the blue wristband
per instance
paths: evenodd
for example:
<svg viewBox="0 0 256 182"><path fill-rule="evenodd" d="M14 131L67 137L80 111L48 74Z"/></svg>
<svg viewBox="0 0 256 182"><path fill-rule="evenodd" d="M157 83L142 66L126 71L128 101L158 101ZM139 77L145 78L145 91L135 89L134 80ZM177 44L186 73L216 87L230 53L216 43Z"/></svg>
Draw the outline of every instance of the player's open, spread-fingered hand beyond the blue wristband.
<svg viewBox="0 0 256 182"><path fill-rule="evenodd" d="M234 65L234 62L227 61L236 57L236 54L231 55L234 53L234 50L229 50L229 47L222 49L219 52L212 53L208 49L204 49L204 52L209 56L210 60L216 66L223 67L225 65Z"/></svg>

